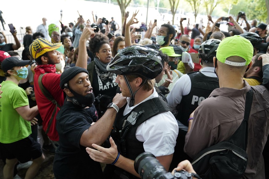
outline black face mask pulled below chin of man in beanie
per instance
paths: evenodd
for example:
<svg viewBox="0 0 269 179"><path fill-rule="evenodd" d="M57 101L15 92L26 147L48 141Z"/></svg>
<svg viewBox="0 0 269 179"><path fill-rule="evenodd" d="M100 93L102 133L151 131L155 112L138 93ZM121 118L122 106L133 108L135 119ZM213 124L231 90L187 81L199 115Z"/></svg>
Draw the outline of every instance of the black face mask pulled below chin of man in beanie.
<svg viewBox="0 0 269 179"><path fill-rule="evenodd" d="M94 102L94 94L89 93L86 96L82 96L79 93L76 93L74 90L69 88L71 93L74 94L73 97L66 96L67 99L71 100L73 104L78 105L80 107L86 108L86 107L92 107Z"/></svg>

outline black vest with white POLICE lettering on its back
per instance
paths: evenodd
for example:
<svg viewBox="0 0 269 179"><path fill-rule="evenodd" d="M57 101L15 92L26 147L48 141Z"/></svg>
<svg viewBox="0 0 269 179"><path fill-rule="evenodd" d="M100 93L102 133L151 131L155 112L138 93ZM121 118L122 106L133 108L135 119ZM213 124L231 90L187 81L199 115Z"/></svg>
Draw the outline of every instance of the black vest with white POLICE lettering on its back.
<svg viewBox="0 0 269 179"><path fill-rule="evenodd" d="M190 114L198 105L209 97L210 93L219 88L218 78L208 77L199 71L188 73L191 81L190 93L182 96L180 104L177 105L177 120L188 126Z"/></svg>

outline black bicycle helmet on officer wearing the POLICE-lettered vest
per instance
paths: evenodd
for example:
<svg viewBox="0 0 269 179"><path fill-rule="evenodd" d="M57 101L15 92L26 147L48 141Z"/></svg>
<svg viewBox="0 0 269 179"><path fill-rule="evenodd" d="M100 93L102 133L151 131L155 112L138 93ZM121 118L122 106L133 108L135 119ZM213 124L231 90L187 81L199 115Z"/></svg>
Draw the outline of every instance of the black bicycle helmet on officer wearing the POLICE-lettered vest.
<svg viewBox="0 0 269 179"><path fill-rule="evenodd" d="M206 63L213 63L213 57L216 57L216 50L220 42L218 39L209 39L203 42L198 50L199 58Z"/></svg>

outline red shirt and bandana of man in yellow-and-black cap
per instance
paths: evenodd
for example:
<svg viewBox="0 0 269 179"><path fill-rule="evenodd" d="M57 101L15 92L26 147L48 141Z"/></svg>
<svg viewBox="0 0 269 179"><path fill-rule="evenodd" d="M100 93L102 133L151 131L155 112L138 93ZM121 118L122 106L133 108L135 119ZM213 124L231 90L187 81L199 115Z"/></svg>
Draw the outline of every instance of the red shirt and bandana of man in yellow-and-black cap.
<svg viewBox="0 0 269 179"><path fill-rule="evenodd" d="M43 130L46 132L49 125L52 113L55 109L55 104L53 104L47 97L44 96L38 85L38 78L41 73L47 73L42 78L42 84L47 89L51 96L57 101L57 103L62 106L64 101L63 89L60 88L60 74L55 73L55 65L39 65L35 69L34 76L34 89L35 89L35 99L38 106L40 116L43 120ZM57 108L56 114L60 109ZM52 141L59 141L59 135L56 130L56 114L51 123L48 137Z"/></svg>

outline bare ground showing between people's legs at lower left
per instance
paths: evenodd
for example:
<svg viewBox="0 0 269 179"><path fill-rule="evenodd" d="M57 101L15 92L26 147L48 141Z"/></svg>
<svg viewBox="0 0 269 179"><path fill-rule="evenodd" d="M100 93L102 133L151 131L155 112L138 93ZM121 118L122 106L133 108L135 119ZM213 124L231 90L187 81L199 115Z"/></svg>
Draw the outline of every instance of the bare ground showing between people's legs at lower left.
<svg viewBox="0 0 269 179"><path fill-rule="evenodd" d="M41 136L41 129L38 129L38 139L37 141L43 145L43 138ZM35 179L54 179L54 174L53 174L53 159L54 155L47 153L46 151L43 151L45 155L45 161L41 165L38 174L36 175ZM0 178L3 178L3 167L4 163L2 160L0 160ZM27 169L21 169L18 171L18 175L21 178L25 177Z"/></svg>

